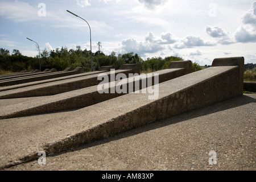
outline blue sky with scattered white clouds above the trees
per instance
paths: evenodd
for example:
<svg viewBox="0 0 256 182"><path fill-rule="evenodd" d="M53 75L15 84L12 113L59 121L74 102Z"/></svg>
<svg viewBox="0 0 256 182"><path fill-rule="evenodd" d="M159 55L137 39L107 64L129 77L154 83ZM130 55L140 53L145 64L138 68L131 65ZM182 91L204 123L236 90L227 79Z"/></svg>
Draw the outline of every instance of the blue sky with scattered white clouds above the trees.
<svg viewBox="0 0 256 182"><path fill-rule="evenodd" d="M249 0L0 0L0 47L23 55L58 47L109 55L180 56L210 65L216 57L256 63L256 1Z"/></svg>

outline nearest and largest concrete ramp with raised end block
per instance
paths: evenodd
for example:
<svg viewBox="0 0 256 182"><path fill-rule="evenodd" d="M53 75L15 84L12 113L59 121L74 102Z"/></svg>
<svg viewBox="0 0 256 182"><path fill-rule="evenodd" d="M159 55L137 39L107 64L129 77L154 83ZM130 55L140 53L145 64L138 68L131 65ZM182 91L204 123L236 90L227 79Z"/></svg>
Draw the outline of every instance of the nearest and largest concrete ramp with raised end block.
<svg viewBox="0 0 256 182"><path fill-rule="evenodd" d="M2 119L1 168L240 96L243 63L243 57L213 60L210 68L158 84L155 100L146 88L79 110Z"/></svg>

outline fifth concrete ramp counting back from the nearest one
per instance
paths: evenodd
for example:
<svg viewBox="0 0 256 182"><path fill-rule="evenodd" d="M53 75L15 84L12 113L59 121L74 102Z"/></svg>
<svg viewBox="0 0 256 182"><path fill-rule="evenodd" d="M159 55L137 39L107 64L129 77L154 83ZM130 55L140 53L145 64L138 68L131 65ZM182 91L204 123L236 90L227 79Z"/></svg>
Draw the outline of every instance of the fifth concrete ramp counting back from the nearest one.
<svg viewBox="0 0 256 182"><path fill-rule="evenodd" d="M61 72L49 71L49 72L46 72L46 74L42 74L39 76L38 75L26 76L26 77L22 77L22 78L15 78L15 79L13 78L13 79L9 79L9 80L3 80L0 82L0 86L18 85L18 84L24 84L24 83L32 82L32 81L48 80L51 78L76 75L76 74L80 74L80 73L84 73L84 69L82 69L82 67L77 67L73 71L61 71Z"/></svg>

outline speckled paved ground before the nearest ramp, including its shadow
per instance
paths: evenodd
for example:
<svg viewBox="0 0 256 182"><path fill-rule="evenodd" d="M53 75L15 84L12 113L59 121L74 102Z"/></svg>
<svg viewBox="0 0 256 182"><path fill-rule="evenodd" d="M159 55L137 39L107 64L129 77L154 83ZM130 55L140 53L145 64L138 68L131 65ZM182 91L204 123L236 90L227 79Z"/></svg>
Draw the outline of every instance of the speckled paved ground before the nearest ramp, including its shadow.
<svg viewBox="0 0 256 182"><path fill-rule="evenodd" d="M256 170L256 94L5 170ZM216 152L217 164L208 155ZM39 156L40 157L40 156Z"/></svg>

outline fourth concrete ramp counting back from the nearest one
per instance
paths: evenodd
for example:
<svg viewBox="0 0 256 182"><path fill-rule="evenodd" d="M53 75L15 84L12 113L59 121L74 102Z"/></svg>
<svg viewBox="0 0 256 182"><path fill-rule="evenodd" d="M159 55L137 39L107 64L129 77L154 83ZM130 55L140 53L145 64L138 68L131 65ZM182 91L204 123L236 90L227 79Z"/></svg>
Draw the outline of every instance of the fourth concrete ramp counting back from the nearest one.
<svg viewBox="0 0 256 182"><path fill-rule="evenodd" d="M26 84L19 84L19 85L12 85L12 86L3 86L3 87L0 88L0 92L6 91L6 90L13 90L13 89L18 89L18 88L24 88L26 86L46 84L48 82L53 82L53 81L67 80L69 78L76 78L76 77L80 77L80 76L88 76L88 75L99 74L99 73L103 73L103 72L106 72L106 71L110 71L110 69L114 69L114 66L107 66L107 67L104 67L104 68L100 68L100 71L80 73L80 74L76 74L76 75L64 76L64 77L59 77L59 78L52 78L52 79L42 80L42 81L33 81L33 82L28 82ZM71 68L66 68L65 70L66 71L72 71Z"/></svg>

